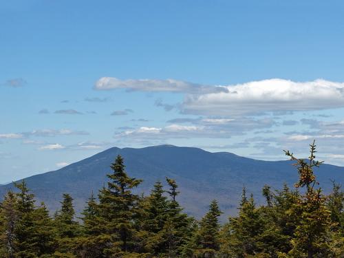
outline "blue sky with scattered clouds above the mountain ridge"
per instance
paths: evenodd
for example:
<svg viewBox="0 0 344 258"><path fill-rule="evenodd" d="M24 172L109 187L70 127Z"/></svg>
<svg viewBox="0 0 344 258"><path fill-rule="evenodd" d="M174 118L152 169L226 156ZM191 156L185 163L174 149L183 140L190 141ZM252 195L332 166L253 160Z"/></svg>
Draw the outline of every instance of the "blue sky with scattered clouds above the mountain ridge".
<svg viewBox="0 0 344 258"><path fill-rule="evenodd" d="M158 144L344 166L343 1L0 1L0 183Z"/></svg>

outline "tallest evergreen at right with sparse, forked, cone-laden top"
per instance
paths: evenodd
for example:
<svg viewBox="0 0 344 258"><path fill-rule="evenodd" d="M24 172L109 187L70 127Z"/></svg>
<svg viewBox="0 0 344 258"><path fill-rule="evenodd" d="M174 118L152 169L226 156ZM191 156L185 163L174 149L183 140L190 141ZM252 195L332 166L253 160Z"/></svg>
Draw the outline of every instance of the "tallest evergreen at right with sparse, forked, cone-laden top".
<svg viewBox="0 0 344 258"><path fill-rule="evenodd" d="M316 189L316 176L314 166L322 162L315 160L316 145L310 144L310 156L308 160L294 157L286 151L286 155L296 162L299 172L297 188L305 188L305 193L292 208L292 213L298 218L294 237L291 240L292 250L288 252L290 257L330 257L330 211L325 206L325 196L321 188Z"/></svg>

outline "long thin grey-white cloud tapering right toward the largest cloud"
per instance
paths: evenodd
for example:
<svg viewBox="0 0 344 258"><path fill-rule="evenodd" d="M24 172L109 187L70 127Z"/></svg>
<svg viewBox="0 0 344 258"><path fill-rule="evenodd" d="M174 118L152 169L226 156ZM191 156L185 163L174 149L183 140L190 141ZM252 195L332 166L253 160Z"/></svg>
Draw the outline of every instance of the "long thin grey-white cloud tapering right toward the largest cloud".
<svg viewBox="0 0 344 258"><path fill-rule="evenodd" d="M210 93L226 92L226 87L208 86L196 83L187 83L182 80L156 80L156 79L138 79L138 80L120 80L114 77L100 78L94 85L94 89L129 89L140 92L180 92L180 93Z"/></svg>

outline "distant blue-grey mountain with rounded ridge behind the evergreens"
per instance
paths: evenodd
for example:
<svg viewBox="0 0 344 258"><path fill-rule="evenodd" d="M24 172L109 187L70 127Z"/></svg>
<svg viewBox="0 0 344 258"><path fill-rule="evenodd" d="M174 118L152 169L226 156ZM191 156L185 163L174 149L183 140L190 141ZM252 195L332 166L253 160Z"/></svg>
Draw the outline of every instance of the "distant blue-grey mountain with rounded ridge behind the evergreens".
<svg viewBox="0 0 344 258"><path fill-rule="evenodd" d="M98 193L106 185L109 166L118 154L124 157L129 175L144 180L138 192L149 193L156 180L173 178L180 186L178 200L186 212L196 217L204 214L213 199L219 201L224 217L234 215L244 185L260 204L264 202L261 197L264 184L281 189L283 182L292 186L298 177L297 169L288 160L252 160L227 152L161 145L142 149L114 147L25 181L37 200L44 201L50 211L59 208L63 193L70 193L76 211L80 212L92 191ZM331 180L344 182L344 167L323 164L316 169L316 175L324 191L329 192ZM1 196L13 188L12 184L0 186Z"/></svg>

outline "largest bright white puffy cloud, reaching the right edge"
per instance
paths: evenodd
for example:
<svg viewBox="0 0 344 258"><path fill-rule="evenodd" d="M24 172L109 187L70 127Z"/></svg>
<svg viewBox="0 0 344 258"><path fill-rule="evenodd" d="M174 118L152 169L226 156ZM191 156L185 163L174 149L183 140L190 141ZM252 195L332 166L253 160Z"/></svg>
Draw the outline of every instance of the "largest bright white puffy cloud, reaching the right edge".
<svg viewBox="0 0 344 258"><path fill-rule="evenodd" d="M344 107L344 83L314 80L304 83L270 79L226 86L227 92L190 94L185 114L239 116L264 111L320 110Z"/></svg>

